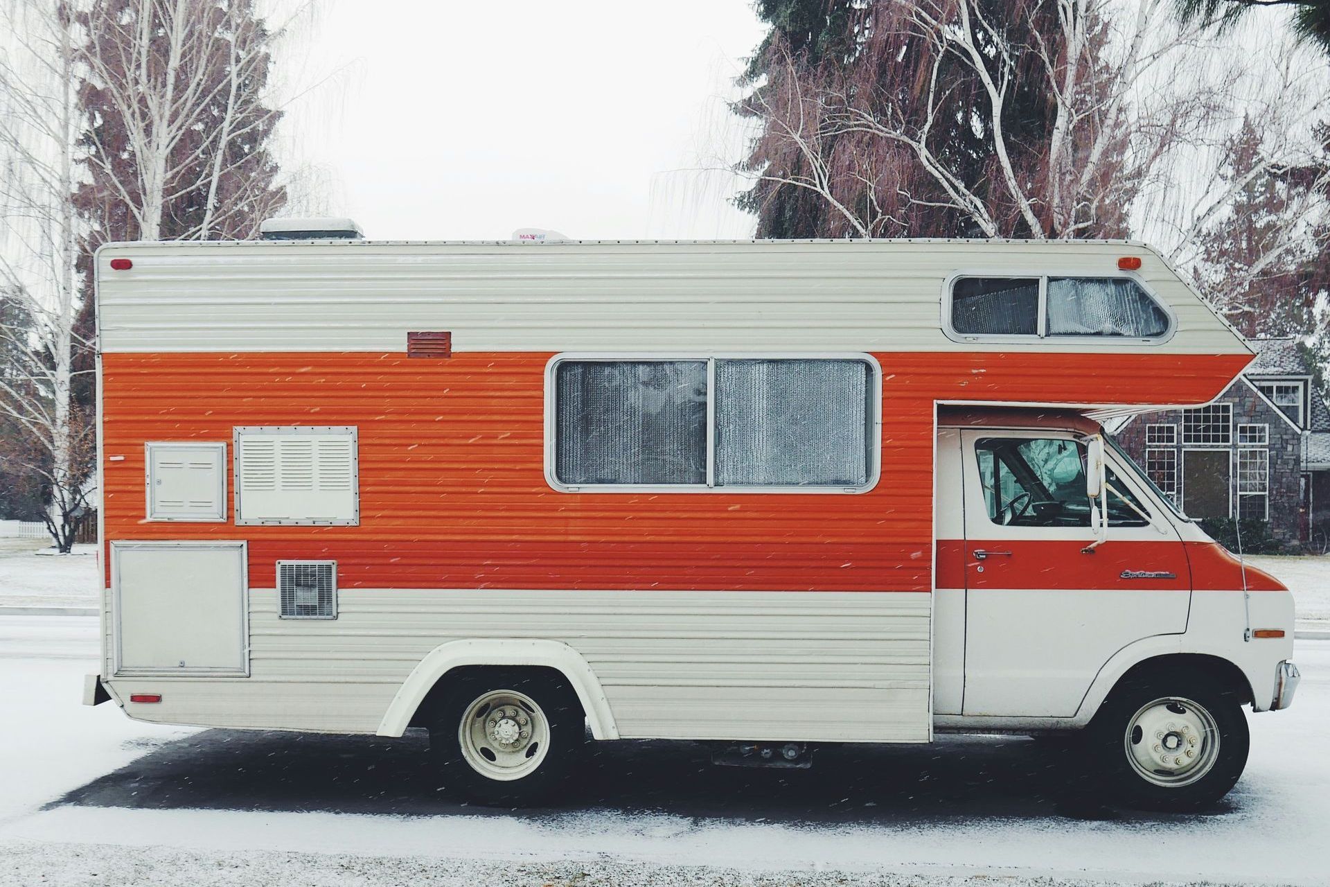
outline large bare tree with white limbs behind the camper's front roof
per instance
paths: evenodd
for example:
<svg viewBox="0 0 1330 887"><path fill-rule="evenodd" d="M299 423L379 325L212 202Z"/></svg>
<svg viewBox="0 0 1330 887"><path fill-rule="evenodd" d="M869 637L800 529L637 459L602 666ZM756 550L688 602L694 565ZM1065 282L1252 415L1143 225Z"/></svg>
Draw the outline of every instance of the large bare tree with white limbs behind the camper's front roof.
<svg viewBox="0 0 1330 887"><path fill-rule="evenodd" d="M785 55L746 109L798 162L750 168L815 190L858 235L919 233L918 211L980 237L1124 235L1161 158L1221 100L1217 78L1189 72L1200 28L1169 13L1165 0L864 4L849 61L809 69L773 47Z"/></svg>

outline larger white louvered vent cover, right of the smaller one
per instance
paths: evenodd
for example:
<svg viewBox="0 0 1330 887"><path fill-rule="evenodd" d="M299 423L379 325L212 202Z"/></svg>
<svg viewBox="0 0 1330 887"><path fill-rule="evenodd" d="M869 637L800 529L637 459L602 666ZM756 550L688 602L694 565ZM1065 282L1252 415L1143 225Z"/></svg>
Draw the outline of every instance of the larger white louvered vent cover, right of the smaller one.
<svg viewBox="0 0 1330 887"><path fill-rule="evenodd" d="M356 430L235 428L237 524L358 524Z"/></svg>

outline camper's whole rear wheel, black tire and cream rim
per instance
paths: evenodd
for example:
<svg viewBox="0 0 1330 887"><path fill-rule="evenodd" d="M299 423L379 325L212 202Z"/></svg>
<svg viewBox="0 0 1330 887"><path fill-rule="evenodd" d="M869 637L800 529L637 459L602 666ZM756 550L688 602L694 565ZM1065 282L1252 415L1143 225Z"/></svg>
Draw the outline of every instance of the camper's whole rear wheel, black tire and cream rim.
<svg viewBox="0 0 1330 887"><path fill-rule="evenodd" d="M477 669L459 677L430 725L444 786L480 803L540 803L565 789L584 714L561 676Z"/></svg>

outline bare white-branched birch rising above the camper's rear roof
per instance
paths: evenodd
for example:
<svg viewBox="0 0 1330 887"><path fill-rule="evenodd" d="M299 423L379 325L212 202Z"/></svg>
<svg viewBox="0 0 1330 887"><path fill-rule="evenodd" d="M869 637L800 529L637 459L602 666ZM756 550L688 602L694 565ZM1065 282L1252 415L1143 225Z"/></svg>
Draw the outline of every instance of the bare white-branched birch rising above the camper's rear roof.
<svg viewBox="0 0 1330 887"><path fill-rule="evenodd" d="M253 0L93 0L81 21L94 238L253 237L286 201L267 148L282 28Z"/></svg>

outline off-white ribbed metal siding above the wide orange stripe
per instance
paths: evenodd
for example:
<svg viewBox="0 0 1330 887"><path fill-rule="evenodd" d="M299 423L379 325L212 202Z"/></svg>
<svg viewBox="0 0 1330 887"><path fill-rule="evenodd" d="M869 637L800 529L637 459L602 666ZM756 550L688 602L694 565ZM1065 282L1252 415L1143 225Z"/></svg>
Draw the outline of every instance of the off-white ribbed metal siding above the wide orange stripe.
<svg viewBox="0 0 1330 887"><path fill-rule="evenodd" d="M1177 315L1170 340L942 332L952 274L1117 274L1124 254ZM403 351L407 331L440 330L459 351L1250 354L1150 250L1081 241L132 243L98 253L97 293L105 352Z"/></svg>

